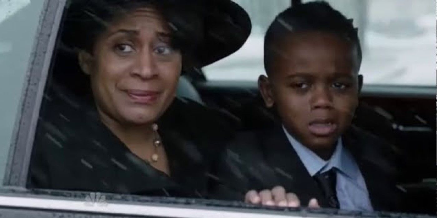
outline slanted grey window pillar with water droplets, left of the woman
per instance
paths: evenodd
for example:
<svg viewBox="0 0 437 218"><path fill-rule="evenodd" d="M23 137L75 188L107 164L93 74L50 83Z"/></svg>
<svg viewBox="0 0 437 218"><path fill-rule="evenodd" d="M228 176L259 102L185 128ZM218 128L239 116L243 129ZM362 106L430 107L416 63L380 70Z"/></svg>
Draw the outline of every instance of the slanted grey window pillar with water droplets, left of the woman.
<svg viewBox="0 0 437 218"><path fill-rule="evenodd" d="M66 0L45 0L35 34L3 180L4 187L24 188L45 83Z"/></svg>

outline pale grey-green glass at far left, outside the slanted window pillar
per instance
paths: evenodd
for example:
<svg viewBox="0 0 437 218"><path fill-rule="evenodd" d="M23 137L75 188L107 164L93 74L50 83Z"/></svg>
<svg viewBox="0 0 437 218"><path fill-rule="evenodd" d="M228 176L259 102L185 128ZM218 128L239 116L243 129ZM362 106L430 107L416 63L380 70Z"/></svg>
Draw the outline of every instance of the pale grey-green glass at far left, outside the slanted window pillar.
<svg viewBox="0 0 437 218"><path fill-rule="evenodd" d="M0 1L0 184L44 2Z"/></svg>

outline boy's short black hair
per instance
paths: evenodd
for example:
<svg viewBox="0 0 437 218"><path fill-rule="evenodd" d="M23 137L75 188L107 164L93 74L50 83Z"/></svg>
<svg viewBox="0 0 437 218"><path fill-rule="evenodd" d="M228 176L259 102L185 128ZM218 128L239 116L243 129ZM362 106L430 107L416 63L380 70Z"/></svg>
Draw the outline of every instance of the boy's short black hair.
<svg viewBox="0 0 437 218"><path fill-rule="evenodd" d="M264 38L264 68L267 75L277 55L281 54L279 47L275 48L275 43L280 43L288 34L298 31L323 31L350 41L357 49L356 71L360 68L361 45L358 28L354 27L353 20L344 17L325 1L314 1L289 7L270 24Z"/></svg>

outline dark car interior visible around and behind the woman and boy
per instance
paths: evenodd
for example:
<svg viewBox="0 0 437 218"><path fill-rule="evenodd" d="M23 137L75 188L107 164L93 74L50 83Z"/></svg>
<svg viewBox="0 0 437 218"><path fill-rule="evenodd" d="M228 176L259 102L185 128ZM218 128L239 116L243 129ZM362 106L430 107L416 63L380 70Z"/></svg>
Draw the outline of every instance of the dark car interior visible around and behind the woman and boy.
<svg viewBox="0 0 437 218"><path fill-rule="evenodd" d="M75 57L62 46L58 48L46 89L51 89L51 84L75 87L81 83L77 69L68 65ZM394 146L401 173L399 187L406 191L414 211L428 214L436 209L434 92L432 87L369 85L361 93L353 121L355 126ZM274 112L264 106L255 81L208 81L204 72L184 72L177 96L220 110L241 131L276 121Z"/></svg>

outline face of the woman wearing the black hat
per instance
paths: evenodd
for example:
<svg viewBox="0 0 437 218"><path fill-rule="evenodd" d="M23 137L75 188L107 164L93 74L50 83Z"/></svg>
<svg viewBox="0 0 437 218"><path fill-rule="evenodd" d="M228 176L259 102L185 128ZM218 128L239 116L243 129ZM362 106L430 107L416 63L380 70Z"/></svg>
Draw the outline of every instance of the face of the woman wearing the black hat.
<svg viewBox="0 0 437 218"><path fill-rule="evenodd" d="M83 51L79 60L90 75L102 118L128 125L153 123L162 115L173 101L182 68L163 18L150 9L110 24L93 54Z"/></svg>

